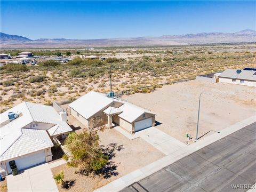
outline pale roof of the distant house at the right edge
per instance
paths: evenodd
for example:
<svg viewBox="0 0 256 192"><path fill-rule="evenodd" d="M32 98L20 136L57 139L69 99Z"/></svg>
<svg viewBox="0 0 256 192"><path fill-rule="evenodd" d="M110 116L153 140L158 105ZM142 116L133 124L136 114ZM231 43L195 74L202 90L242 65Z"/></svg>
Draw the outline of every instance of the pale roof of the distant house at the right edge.
<svg viewBox="0 0 256 192"><path fill-rule="evenodd" d="M253 74L255 74L253 70L241 70L241 73L237 73L236 69L226 69L219 77L256 81L256 75Z"/></svg>

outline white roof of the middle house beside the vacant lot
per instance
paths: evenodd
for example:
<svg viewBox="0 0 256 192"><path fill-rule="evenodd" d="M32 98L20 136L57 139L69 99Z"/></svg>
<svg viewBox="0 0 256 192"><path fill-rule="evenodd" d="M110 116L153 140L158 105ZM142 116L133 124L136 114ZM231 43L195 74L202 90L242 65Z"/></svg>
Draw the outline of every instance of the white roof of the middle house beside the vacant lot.
<svg viewBox="0 0 256 192"><path fill-rule="evenodd" d="M109 105L111 104L111 102L114 102L114 101L123 103L123 105L116 109L114 109L113 107L109 108ZM135 121L135 119L137 119L143 113L154 114L149 110L135 106L132 103L129 103L127 101L123 101L117 98L108 98L106 97L105 94L94 92L94 91L90 91L89 93L85 94L81 98L70 103L69 106L86 119L90 118L91 116L98 113L98 111L104 108L106 108L104 110L105 113L110 113L110 110L113 110L113 109L114 110L118 109L119 111L122 111L122 113L119 114L118 116L130 123Z"/></svg>

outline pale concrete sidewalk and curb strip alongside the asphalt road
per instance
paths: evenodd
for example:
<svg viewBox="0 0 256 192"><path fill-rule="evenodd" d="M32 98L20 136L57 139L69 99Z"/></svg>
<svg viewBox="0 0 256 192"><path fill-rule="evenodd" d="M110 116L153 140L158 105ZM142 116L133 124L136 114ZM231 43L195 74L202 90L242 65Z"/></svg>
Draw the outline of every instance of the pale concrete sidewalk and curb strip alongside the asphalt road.
<svg viewBox="0 0 256 192"><path fill-rule="evenodd" d="M157 161L146 165L142 167L141 169L135 170L129 174L124 175L121 178L118 178L110 183L108 183L106 186L103 186L99 189L96 189L94 191L119 191L123 188L131 185L132 183L139 181L161 169L163 167L170 165L179 159L186 157L190 154L193 154L195 151L202 149L203 147L210 145L211 143L218 141L227 135L234 133L240 129L243 129L245 126L250 125L252 123L256 122L256 116L249 117L241 122L238 122L234 125L231 125L223 130L220 131L220 133L214 133L210 135L209 137L206 137L202 140L199 140L189 146L186 146L179 151L175 151L173 154L169 154L161 159L158 159Z"/></svg>

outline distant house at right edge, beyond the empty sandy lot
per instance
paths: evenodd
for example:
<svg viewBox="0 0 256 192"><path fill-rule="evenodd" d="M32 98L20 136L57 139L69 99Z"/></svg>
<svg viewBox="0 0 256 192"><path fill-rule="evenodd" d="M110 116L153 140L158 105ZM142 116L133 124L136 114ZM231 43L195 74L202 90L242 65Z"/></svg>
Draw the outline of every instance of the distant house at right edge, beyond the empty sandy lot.
<svg viewBox="0 0 256 192"><path fill-rule="evenodd" d="M219 82L256 87L256 71L226 69L219 75Z"/></svg>

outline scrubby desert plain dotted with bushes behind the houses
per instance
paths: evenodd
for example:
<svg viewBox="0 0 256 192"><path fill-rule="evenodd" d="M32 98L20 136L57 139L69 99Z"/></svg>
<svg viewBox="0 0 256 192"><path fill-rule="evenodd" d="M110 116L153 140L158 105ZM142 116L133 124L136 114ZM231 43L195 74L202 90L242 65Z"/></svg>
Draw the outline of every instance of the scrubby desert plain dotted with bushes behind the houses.
<svg viewBox="0 0 256 192"><path fill-rule="evenodd" d="M15 55L21 50L2 50ZM36 55L54 55L67 50L27 50ZM73 60L59 63L39 60L35 66L4 65L1 67L1 113L22 101L51 105L74 101L94 90L106 93L149 93L161 84L194 79L199 74L215 73L227 68L255 67L255 44L173 46L145 48L109 48L70 50ZM77 54L79 53L79 54ZM79 58L96 54L106 60ZM153 85L144 89L140 87ZM129 90L129 91L127 91Z"/></svg>

